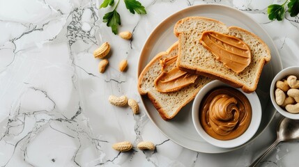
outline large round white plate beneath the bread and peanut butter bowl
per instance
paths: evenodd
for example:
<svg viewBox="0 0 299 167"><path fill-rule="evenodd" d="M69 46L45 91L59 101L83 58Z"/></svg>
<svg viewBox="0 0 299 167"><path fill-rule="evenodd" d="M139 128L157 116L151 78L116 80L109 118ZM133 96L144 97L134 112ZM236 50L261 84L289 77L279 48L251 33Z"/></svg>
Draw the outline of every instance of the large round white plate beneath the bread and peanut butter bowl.
<svg viewBox="0 0 299 167"><path fill-rule="evenodd" d="M174 24L176 24L178 20L189 16L210 17L220 20L220 22L223 22L227 26L240 26L243 29L258 35L270 48L272 56L271 61L263 68L259 85L256 89L256 93L259 95L259 99L261 101L263 116L261 118L261 125L252 138L253 140L259 136L261 132L263 132L263 129L268 126L269 122L275 115L275 109L273 104L270 102L269 90L271 81L275 77L275 74L282 70L282 61L280 60L279 53L268 33L266 33L266 31L262 29L261 26L254 21L254 19L245 13L228 6L205 4L185 8L184 10L169 16L153 30L146 40L139 57L137 75L139 76L146 64L151 61L156 54L160 51L166 51L167 48L178 40L173 33ZM178 143L178 145L181 145L184 148L206 153L228 152L237 149L218 148L210 143L207 143L203 138L201 138L201 136L199 136L199 134L197 134L197 131L192 123L192 102L183 107L178 115L169 121L162 120L158 111L155 109L151 101L148 100L147 96L141 96L141 102L144 104L148 117L158 127L158 129L160 129L167 138L171 139L171 141ZM240 147L242 146L239 146L238 148Z"/></svg>

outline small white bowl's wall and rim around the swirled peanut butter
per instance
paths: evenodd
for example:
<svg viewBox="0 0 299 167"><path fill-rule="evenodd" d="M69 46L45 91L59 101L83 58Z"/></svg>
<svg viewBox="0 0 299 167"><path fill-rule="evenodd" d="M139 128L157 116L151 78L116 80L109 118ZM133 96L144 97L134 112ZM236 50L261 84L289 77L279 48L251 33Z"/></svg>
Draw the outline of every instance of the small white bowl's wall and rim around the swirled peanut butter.
<svg viewBox="0 0 299 167"><path fill-rule="evenodd" d="M259 125L261 123L261 103L259 102L259 97L256 95L256 93L243 93L243 90L241 89L236 89L239 90L241 93L243 93L247 99L250 101L250 104L252 106L252 119L250 122L249 127L247 130L238 136L237 138L233 138L228 141L222 141L218 140L216 138L213 138L212 136L208 135L206 131L201 127L201 123L199 120L199 106L201 104L201 100L203 100L204 96L210 91L213 90L214 88L222 87L222 86L227 86L231 87L227 84L224 84L222 81L212 81L209 84L206 84L201 90L199 90L199 93L194 99L193 105L192 105L192 120L195 129L199 133L199 135L204 138L208 143L215 145L219 148L235 148L240 145L243 145L247 141L254 136L256 133L257 129L259 129Z"/></svg>

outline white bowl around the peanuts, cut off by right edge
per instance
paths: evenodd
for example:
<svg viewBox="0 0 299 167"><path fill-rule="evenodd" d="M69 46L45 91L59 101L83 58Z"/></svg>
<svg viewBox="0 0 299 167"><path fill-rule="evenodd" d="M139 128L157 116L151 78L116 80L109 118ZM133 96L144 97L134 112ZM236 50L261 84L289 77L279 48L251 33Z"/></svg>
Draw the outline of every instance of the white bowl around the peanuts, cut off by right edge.
<svg viewBox="0 0 299 167"><path fill-rule="evenodd" d="M275 102L274 93L275 93L276 81L282 80L289 75L295 75L299 79L299 66L287 67L276 74L270 86L270 98L271 98L271 102L273 103L273 106L279 113L282 114L282 116L285 116L293 120L299 120L299 113L289 113L281 106L277 105L277 103Z"/></svg>

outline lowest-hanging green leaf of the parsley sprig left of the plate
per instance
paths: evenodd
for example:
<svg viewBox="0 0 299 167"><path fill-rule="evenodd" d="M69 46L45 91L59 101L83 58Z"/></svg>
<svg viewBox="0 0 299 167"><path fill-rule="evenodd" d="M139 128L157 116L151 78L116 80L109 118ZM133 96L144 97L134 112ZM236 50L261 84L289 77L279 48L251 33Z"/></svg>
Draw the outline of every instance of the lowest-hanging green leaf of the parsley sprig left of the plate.
<svg viewBox="0 0 299 167"><path fill-rule="evenodd" d="M121 25L121 16L117 13L116 8L102 17L102 22L107 22L107 26L111 26L112 32L116 35L118 33L118 25Z"/></svg>

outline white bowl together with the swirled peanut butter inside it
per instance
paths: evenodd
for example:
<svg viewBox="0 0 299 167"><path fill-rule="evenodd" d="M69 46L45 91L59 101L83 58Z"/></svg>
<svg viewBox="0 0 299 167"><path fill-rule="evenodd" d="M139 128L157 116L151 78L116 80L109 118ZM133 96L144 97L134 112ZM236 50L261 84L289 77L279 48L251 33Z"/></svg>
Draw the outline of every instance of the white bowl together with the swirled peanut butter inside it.
<svg viewBox="0 0 299 167"><path fill-rule="evenodd" d="M238 147L259 129L259 97L222 81L211 81L194 99L192 121L199 137L208 143L220 148Z"/></svg>

